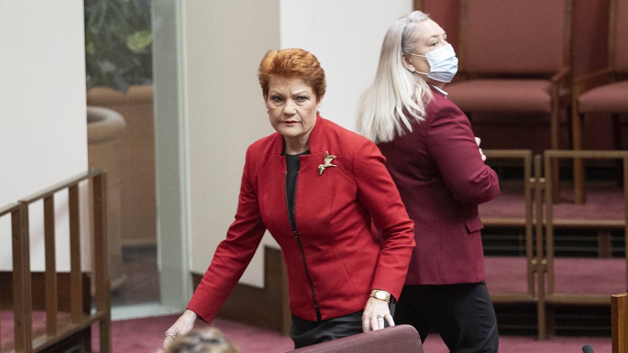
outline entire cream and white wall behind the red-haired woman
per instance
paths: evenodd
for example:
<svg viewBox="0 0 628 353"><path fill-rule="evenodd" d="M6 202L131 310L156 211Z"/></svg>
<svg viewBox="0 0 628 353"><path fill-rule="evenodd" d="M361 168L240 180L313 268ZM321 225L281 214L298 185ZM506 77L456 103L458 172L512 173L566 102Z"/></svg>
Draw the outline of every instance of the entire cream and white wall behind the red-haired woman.
<svg viewBox="0 0 628 353"><path fill-rule="evenodd" d="M234 219L244 154L273 132L257 67L267 50L300 47L327 76L322 116L355 128L389 24L412 1L185 2L185 111L190 185L190 268L204 273ZM267 234L263 244L274 244ZM261 248L241 282L263 286Z"/></svg>

